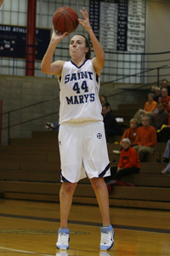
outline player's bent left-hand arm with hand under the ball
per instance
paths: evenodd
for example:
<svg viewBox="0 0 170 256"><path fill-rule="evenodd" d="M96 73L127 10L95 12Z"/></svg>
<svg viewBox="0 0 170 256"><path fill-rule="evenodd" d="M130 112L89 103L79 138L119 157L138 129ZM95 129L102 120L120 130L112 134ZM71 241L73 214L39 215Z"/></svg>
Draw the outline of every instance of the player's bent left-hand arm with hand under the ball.
<svg viewBox="0 0 170 256"><path fill-rule="evenodd" d="M48 45L48 49L43 56L41 70L43 73L51 74L51 75L59 75L62 72L62 68L64 66L65 61L54 61L52 62L54 51L59 44L59 42L68 35L68 32L63 34L56 33L53 29L53 34Z"/></svg>

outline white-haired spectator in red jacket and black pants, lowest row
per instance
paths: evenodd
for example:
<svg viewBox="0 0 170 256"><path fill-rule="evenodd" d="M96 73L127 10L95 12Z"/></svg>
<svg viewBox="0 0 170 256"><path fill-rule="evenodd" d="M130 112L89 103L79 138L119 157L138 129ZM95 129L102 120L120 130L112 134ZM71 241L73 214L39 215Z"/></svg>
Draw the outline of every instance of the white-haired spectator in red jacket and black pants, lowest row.
<svg viewBox="0 0 170 256"><path fill-rule="evenodd" d="M105 183L111 184L132 173L140 172L139 154L132 148L129 138L122 140L122 151L119 164L111 167L111 176L105 177Z"/></svg>

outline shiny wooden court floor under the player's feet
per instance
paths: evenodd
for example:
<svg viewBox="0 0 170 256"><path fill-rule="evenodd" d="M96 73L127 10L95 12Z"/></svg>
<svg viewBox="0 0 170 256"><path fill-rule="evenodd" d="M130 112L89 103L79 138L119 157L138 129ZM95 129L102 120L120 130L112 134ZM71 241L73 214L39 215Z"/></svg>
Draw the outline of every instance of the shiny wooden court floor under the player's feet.
<svg viewBox="0 0 170 256"><path fill-rule="evenodd" d="M70 249L56 250L59 204L0 200L0 256L167 256L170 212L111 207L115 245L99 252L98 207L73 205Z"/></svg>

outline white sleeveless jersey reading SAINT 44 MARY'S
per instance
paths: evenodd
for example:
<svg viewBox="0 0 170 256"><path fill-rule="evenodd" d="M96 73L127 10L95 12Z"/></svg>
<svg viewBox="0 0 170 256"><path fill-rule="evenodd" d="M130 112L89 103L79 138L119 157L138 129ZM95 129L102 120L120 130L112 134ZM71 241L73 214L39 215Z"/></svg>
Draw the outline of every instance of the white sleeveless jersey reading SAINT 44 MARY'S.
<svg viewBox="0 0 170 256"><path fill-rule="evenodd" d="M81 67L65 61L59 78L59 125L103 120L99 80L91 60L86 60Z"/></svg>

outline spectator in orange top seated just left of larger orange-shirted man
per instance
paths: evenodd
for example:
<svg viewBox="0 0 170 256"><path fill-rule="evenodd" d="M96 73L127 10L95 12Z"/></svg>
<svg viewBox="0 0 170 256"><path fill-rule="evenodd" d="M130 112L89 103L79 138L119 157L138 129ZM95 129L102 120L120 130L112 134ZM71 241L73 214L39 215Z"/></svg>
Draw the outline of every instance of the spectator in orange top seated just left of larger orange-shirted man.
<svg viewBox="0 0 170 256"><path fill-rule="evenodd" d="M139 122L137 119L131 119L130 120L130 128L128 128L126 131L124 131L123 135L122 135L122 139L120 141L120 144L122 145L122 140L124 138L129 138L130 142L131 142L131 146L134 146L134 142L135 142L135 138L136 138L136 133L138 130L138 125Z"/></svg>

